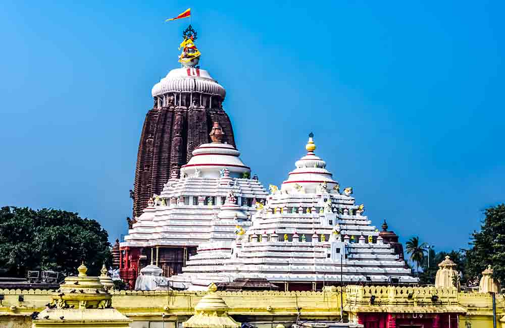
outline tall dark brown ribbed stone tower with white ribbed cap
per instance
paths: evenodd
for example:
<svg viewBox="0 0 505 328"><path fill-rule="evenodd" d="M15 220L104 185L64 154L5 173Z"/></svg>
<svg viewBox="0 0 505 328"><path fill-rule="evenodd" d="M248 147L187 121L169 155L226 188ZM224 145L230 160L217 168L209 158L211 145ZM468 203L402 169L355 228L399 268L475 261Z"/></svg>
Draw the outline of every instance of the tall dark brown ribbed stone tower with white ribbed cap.
<svg viewBox="0 0 505 328"><path fill-rule="evenodd" d="M170 71L151 91L154 106L147 112L138 145L133 216L142 214L147 200L160 194L173 172L202 143L210 142L214 122L223 130L223 142L235 147L233 129L222 107L226 90L198 65L200 52L189 26L183 32L182 67Z"/></svg>

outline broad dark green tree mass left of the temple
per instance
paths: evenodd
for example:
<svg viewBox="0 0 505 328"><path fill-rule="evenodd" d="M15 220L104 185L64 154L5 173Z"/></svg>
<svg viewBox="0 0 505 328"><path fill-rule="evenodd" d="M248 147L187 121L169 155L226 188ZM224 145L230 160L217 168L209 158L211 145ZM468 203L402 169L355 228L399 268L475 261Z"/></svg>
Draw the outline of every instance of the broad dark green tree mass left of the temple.
<svg viewBox="0 0 505 328"><path fill-rule="evenodd" d="M27 270L54 270L75 275L82 261L98 276L111 264L109 236L95 220L77 213L28 207L0 208L0 268L24 277Z"/></svg>

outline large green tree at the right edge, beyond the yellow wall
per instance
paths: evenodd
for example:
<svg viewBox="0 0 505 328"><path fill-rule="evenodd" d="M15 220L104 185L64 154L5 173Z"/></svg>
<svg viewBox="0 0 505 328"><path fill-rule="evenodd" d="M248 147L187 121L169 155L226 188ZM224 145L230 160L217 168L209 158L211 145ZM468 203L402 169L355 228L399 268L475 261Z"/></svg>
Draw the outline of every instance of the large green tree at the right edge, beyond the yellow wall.
<svg viewBox="0 0 505 328"><path fill-rule="evenodd" d="M480 232L472 234L471 248L466 250L466 278L478 284L481 272L491 265L493 276L505 282L505 204L491 206L485 211Z"/></svg>

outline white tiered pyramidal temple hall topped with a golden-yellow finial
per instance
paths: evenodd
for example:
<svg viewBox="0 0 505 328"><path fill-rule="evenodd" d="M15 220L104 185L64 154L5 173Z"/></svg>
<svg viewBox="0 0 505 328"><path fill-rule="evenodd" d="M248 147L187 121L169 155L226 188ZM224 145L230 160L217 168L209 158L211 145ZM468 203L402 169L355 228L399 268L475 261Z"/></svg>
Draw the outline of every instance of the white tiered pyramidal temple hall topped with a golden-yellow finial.
<svg viewBox="0 0 505 328"><path fill-rule="evenodd" d="M379 230L357 205L352 188L340 186L314 151L295 163L280 189L270 185L252 225L234 241L198 245L174 288L205 289L211 283L263 278L281 290L321 290L349 283L415 284L402 256L384 243Z"/></svg>

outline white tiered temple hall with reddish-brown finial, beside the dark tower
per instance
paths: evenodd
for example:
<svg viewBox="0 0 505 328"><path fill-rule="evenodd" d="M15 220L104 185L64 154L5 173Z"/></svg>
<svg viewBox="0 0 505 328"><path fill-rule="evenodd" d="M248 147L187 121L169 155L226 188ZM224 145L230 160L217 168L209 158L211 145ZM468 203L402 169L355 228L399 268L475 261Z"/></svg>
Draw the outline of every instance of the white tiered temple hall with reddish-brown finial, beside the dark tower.
<svg viewBox="0 0 505 328"><path fill-rule="evenodd" d="M172 170L160 195L149 199L120 244L120 275L132 288L139 270L149 263L171 277L181 272L199 244L229 244L235 232L250 226L256 203L265 202L268 192L257 177L250 178L240 152L223 142L218 122L210 138L211 143L193 150L180 172Z"/></svg>

